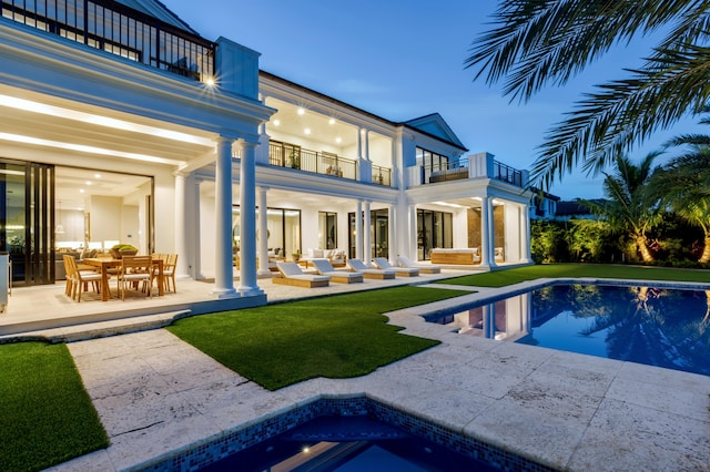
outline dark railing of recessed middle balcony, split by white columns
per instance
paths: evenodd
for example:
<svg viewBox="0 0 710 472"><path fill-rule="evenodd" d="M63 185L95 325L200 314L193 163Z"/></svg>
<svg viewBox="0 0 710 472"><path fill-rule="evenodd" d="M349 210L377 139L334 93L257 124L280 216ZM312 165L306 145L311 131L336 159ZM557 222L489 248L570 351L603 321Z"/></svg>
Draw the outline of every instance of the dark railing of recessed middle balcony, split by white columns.
<svg viewBox="0 0 710 472"><path fill-rule="evenodd" d="M351 181L358 179L357 161L325 151L305 150L298 145L271 141L268 164L313 174L329 175ZM392 185L392 170L373 165L373 184Z"/></svg>

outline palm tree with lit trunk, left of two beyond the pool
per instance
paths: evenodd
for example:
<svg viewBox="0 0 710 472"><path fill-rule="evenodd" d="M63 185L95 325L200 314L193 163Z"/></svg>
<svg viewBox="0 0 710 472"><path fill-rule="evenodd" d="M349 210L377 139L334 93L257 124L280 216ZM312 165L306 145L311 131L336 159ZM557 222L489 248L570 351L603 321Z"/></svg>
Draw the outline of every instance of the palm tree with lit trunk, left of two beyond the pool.
<svg viewBox="0 0 710 472"><path fill-rule="evenodd" d="M604 193L608 198L602 203L585 202L591 211L605 217L611 227L628 232L646 263L653 261L647 232L661 219L658 198L646 192L653 174L653 160L660 152L649 153L637 166L627 156L618 155L615 173L604 179Z"/></svg>

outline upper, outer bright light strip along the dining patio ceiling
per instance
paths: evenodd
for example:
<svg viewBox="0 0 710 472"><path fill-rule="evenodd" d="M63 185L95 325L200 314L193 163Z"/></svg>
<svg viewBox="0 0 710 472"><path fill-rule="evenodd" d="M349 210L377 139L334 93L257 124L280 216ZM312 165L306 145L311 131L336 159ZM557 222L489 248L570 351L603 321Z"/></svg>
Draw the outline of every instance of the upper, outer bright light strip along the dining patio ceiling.
<svg viewBox="0 0 710 472"><path fill-rule="evenodd" d="M49 116L58 116L67 120L80 121L82 123L97 124L115 130L131 131L134 133L149 134L151 136L164 137L166 140L180 141L183 143L199 144L212 147L214 143L206 137L194 136L192 134L180 133L178 131L163 130L155 126L131 123L109 116L84 113L77 110L62 109L61 106L48 105L45 103L32 102L30 100L0 94L0 105L10 109L23 110Z"/></svg>

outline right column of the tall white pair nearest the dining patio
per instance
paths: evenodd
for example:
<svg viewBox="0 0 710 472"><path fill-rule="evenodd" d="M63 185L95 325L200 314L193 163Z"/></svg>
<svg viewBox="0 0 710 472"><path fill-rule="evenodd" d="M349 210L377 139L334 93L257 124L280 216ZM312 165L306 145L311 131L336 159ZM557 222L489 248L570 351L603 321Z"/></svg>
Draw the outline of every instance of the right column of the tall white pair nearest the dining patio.
<svg viewBox="0 0 710 472"><path fill-rule="evenodd" d="M240 294L263 295L256 284L256 164L254 143L240 140Z"/></svg>

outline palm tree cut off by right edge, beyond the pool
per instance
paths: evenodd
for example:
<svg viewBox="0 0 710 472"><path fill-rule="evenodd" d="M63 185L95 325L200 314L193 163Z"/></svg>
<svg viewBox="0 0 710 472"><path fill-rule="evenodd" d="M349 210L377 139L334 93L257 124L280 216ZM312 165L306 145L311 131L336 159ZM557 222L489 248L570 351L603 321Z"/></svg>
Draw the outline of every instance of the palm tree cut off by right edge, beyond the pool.
<svg viewBox="0 0 710 472"><path fill-rule="evenodd" d="M710 136L683 135L668 144L690 144L690 151L653 174L648 194L702 228L704 248L698 261L710 263Z"/></svg>

